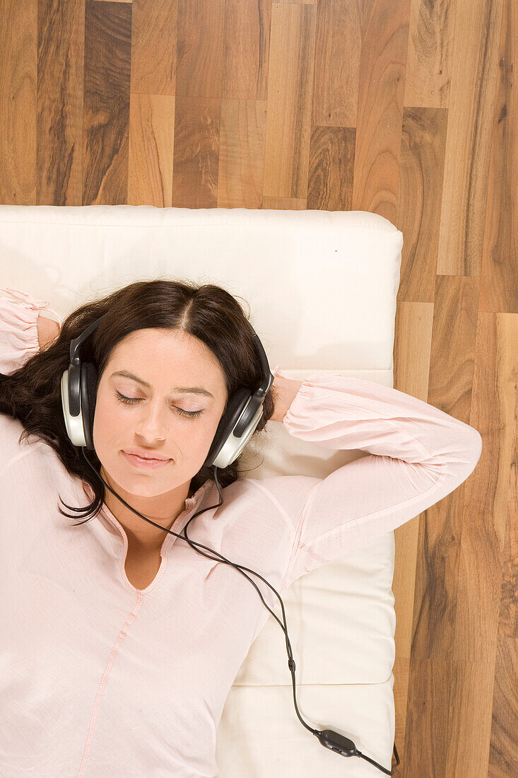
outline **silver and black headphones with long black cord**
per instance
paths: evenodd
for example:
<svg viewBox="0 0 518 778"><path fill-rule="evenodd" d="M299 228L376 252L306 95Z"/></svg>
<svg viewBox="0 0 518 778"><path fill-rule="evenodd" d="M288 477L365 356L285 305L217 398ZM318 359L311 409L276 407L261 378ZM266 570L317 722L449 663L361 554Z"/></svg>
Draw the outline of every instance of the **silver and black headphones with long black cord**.
<svg viewBox="0 0 518 778"><path fill-rule="evenodd" d="M306 724L306 722L300 716L296 702L295 661L293 660L292 647L291 643L289 642L284 604L274 587L272 587L271 584L268 584L268 581L254 570L251 570L250 568L243 565L237 565L234 562L229 562L228 559L226 559L219 552L215 551L213 548L208 548L201 543L191 541L187 537L187 527L189 524L191 524L193 519L199 516L200 513L205 513L205 510L211 510L212 508L217 508L222 505L223 498L218 481L217 469L228 467L229 464L231 464L234 460L236 460L237 457L240 456L243 448L247 445L250 437L257 429L257 425L261 421L261 417L263 415L264 399L271 387L271 384L273 383L274 376L271 373L270 366L268 364L268 358L264 352L261 340L254 331L254 328L252 328L250 322L247 321L248 327L250 328L250 333L254 340L255 348L257 349L257 356L259 357L259 361L261 363L261 385L256 389L256 391L254 391L254 393L251 393L250 390L246 387L241 387L233 394L231 398L229 398L226 411L223 413L222 418L219 421L219 426L218 429L216 429L214 440L212 440L212 445L208 450L207 458L204 462L204 467L214 468L214 480L218 488L220 502L217 505L208 506L208 508L198 510L198 513L194 513L194 515L191 516L184 527L185 534L180 535L171 530L166 530L165 527L161 527L151 519L142 516L142 513L138 513L138 510L134 510L130 505L128 505L128 503L126 503L124 499L122 499L122 497L117 495L116 492L111 489L102 475L100 475L93 464L89 461L88 457L86 457L86 450L95 451L93 446L93 417L96 407L97 368L96 365L92 362L82 362L81 348L82 344L86 341L87 338L89 338L90 335L92 335L93 332L96 331L107 315L108 314L103 314L103 316L96 319L96 321L93 321L92 324L89 324L89 326L84 331L82 331L79 337L74 338L70 342L70 364L67 370L65 370L61 376L61 406L63 408L63 416L65 418L67 434L69 439L72 441L72 444L81 448L82 455L85 457L89 467L93 469L95 474L101 479L107 489L110 489L110 492L116 496L117 499L120 499L121 503L124 503L124 505L129 508L129 510L133 511L133 513L135 513L138 517L148 521L149 524L153 524L154 527L158 527L159 529L162 529L169 534L176 535L177 538L181 538L182 540L187 541L187 543L191 545L192 548L194 548L194 545L199 545L201 548L205 548L207 551L212 551L221 557L221 559L217 559L215 556L204 554L203 552L198 551L198 548L194 548L194 551L197 551L199 554L206 556L207 559L216 559L218 562L225 562L226 564L233 566L236 570L238 570L238 572L240 572L250 581L250 584L252 584L252 586L257 589L257 594L259 594L264 607L267 608L267 610L271 613L271 615L278 622L278 624L281 626L281 629L285 633L286 650L288 652L288 667L292 674L293 702L295 704L296 714L303 726L306 727L306 729L309 730L313 735L315 735L325 748L330 748L331 751L341 754L342 756L362 757L362 759L366 759L367 762L370 762L374 766L378 767L386 775L391 776L393 773L390 772L390 770L385 769L377 762L374 762L373 759L369 759L368 756L358 751L355 744L352 742L352 740L349 740L349 738L345 738L343 735L339 734L338 732L334 732L331 729L325 729L323 731L313 729L313 727L310 727L309 724ZM275 592L281 603L284 626L282 626L275 613L271 610L271 608L268 608L268 605L266 605L264 602L261 591L259 591L257 585L254 584L254 581L251 580L251 578L247 576L246 573L243 573L243 570L248 570L249 573L254 573L254 575L261 578L261 580L263 580L264 583ZM397 748L395 743L394 755L397 760L397 766L400 763L400 760L399 756L397 755Z"/></svg>

